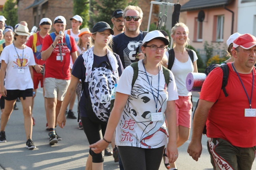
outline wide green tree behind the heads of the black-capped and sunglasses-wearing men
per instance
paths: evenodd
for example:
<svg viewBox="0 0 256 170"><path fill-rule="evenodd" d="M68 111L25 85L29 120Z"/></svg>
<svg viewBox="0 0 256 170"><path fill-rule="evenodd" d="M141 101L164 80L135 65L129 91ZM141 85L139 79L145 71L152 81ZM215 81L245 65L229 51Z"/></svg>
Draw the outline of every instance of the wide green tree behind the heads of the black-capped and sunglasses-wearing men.
<svg viewBox="0 0 256 170"><path fill-rule="evenodd" d="M98 0L99 3L96 3L95 0L91 0L91 5L93 5L93 10L98 11L97 14L91 13L91 17L93 18L93 22L91 26L93 26L96 22L104 21L110 26L113 26L111 18L112 14L117 9L123 9L128 5L136 5L137 2L135 0L128 1L120 1L120 0Z"/></svg>

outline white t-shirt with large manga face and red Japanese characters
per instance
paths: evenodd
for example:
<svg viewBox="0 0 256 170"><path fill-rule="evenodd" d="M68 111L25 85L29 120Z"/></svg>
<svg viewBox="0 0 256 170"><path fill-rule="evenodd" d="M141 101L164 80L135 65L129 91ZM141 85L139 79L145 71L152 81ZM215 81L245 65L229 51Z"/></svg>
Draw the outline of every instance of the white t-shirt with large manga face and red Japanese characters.
<svg viewBox="0 0 256 170"><path fill-rule="evenodd" d="M164 113L167 100L178 99L174 76L170 72L170 82L166 89L165 77L162 67L160 67L157 100L158 74L147 73L155 96L154 100L142 61L138 62L138 67L138 78L132 89L133 68L131 66L126 67L116 88L117 92L130 96L116 127L115 142L117 146L159 148L168 143L165 116L163 114L163 120L151 122L151 113L156 113L155 100L157 101L157 111Z"/></svg>

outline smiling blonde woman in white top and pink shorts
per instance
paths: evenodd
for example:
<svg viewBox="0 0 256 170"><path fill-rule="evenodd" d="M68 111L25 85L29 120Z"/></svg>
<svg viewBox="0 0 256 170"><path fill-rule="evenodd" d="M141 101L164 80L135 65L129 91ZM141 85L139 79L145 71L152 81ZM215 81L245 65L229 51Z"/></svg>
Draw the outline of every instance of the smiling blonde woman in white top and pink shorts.
<svg viewBox="0 0 256 170"><path fill-rule="evenodd" d="M194 61L191 61L189 57L186 49L189 43L189 30L184 23L176 23L172 28L171 33L171 37L173 39L173 49L171 50L174 51L175 58L172 68L168 66L168 69L173 72L179 95L179 100L175 101L175 109L177 116L177 147L180 147L188 140L191 128L192 102L191 92L188 92L186 88L186 77L189 72L198 72L196 62L198 57L196 52L193 50ZM163 156L163 158L167 169L169 166L171 170L176 169L175 163L169 165L167 157Z"/></svg>

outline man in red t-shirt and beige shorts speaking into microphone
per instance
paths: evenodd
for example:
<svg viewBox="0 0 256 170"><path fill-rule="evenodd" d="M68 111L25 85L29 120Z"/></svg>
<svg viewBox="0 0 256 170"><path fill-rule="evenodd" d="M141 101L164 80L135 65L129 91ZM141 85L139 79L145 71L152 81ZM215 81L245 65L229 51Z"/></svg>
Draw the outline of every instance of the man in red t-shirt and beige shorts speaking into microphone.
<svg viewBox="0 0 256 170"><path fill-rule="evenodd" d="M53 145L61 140L56 135L57 117L71 79L70 55L73 62L77 58L75 39L63 34L66 19L58 16L54 19L54 33L43 40L42 59L45 63L45 98L47 101L46 118L49 127L49 144ZM61 50L60 50L61 49Z"/></svg>

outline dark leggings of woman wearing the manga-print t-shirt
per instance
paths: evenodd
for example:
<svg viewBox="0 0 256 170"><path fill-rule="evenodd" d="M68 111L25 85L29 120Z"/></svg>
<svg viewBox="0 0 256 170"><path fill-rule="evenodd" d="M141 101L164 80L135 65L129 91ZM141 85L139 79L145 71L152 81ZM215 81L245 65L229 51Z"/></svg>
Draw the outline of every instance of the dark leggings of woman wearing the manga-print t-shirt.
<svg viewBox="0 0 256 170"><path fill-rule="evenodd" d="M125 170L157 170L160 167L165 146L155 149L118 146Z"/></svg>

